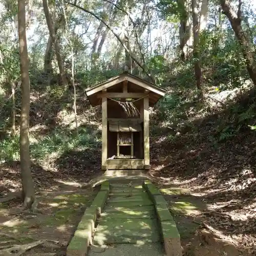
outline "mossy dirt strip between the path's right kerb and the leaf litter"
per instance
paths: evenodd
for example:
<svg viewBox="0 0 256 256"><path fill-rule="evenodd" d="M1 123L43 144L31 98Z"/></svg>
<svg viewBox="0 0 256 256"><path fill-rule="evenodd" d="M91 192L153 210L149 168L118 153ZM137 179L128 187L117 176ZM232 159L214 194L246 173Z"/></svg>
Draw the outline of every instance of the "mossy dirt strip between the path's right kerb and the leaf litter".
<svg viewBox="0 0 256 256"><path fill-rule="evenodd" d="M218 218L218 212L205 203L202 195L174 184L159 188L179 229L184 256L256 255L252 247L241 246L237 237L212 225L211 220Z"/></svg>

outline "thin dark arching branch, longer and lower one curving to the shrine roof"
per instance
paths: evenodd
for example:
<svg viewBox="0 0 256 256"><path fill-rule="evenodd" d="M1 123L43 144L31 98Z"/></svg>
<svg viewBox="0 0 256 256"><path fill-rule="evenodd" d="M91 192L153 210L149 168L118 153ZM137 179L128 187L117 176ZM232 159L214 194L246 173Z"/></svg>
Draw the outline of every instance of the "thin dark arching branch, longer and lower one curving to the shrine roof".
<svg viewBox="0 0 256 256"><path fill-rule="evenodd" d="M76 4L73 4L73 3L69 2L69 1L66 1L66 0L65 0L64 2L65 2L66 4L72 5L72 6L78 8L78 9L84 11L84 12L87 12L87 13L93 15L96 19L98 19L100 22L102 22L102 23L114 34L114 36L115 36L115 37L117 38L117 40L120 42L120 44L122 45L122 47L124 48L124 50L131 56L131 58L134 60L134 62L136 62L136 64L146 73L146 75L147 75L151 80L153 80L153 82L155 82L154 79L152 78L152 76L151 76L150 74L148 74L148 72L146 72L146 70L145 70L144 67L140 64L140 62L132 55L132 53L130 53L129 49L127 49L127 47L123 44L123 42L122 42L121 38L118 36L118 34L115 33L115 31L114 31L108 24L106 24L106 22L105 22L103 19L101 19L101 18L100 18L98 15L96 15L95 13L93 13L93 12L91 12L91 11L89 11L89 10L87 10L87 9L85 9L85 8L83 8L83 7L81 7L81 6L78 6L78 5L76 5Z"/></svg>

